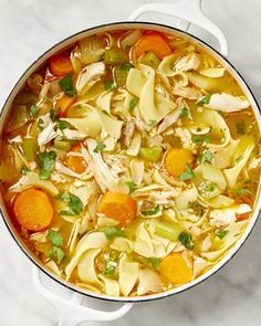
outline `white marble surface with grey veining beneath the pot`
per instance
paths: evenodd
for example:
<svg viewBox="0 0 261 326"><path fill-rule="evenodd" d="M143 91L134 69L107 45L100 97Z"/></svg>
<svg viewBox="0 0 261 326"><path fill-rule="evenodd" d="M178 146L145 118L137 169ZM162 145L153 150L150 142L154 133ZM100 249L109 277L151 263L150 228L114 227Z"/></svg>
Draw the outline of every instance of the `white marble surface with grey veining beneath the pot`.
<svg viewBox="0 0 261 326"><path fill-rule="evenodd" d="M21 73L49 46L87 27L124 20L146 2L0 0L0 105ZM203 0L202 7L225 31L229 59L261 99L261 1ZM170 18L157 19L171 23ZM137 304L127 316L107 325L261 325L260 232L259 222L232 262L203 284L176 297ZM58 325L55 311L32 285L31 262L2 221L0 249L0 325Z"/></svg>

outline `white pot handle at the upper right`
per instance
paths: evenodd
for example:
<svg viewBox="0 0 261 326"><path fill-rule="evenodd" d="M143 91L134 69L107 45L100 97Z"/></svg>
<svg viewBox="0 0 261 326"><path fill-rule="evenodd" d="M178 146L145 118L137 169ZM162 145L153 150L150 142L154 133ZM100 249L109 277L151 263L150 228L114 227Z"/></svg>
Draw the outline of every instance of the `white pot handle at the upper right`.
<svg viewBox="0 0 261 326"><path fill-rule="evenodd" d="M147 3L136 9L128 18L130 21L137 20L143 13L159 12L179 18L177 28L188 31L190 23L210 32L219 42L222 55L228 55L228 42L223 32L211 20L209 20L201 9L202 0L178 0L175 3Z"/></svg>

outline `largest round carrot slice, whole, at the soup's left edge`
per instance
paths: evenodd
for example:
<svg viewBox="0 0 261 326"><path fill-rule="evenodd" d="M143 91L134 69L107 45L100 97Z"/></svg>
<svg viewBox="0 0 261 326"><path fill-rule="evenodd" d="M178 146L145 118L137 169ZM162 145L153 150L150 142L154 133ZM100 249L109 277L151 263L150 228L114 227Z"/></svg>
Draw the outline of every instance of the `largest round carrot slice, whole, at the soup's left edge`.
<svg viewBox="0 0 261 326"><path fill-rule="evenodd" d="M29 231L44 230L53 221L52 202L43 190L36 188L18 194L13 212L19 224Z"/></svg>

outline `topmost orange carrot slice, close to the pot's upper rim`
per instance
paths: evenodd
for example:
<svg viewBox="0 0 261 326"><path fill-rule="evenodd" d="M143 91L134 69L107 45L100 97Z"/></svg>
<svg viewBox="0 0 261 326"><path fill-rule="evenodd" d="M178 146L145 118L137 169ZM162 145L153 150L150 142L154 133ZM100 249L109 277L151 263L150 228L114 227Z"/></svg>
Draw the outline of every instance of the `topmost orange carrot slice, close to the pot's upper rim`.
<svg viewBox="0 0 261 326"><path fill-rule="evenodd" d="M143 35L133 49L135 59L139 59L148 52L153 52L161 60L164 56L171 54L173 50L163 34L153 32Z"/></svg>

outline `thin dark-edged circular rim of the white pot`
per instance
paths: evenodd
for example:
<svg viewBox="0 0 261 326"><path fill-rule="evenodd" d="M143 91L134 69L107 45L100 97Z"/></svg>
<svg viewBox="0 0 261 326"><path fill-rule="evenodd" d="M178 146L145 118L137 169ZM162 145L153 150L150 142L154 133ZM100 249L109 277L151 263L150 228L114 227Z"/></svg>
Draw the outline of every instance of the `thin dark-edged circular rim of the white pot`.
<svg viewBox="0 0 261 326"><path fill-rule="evenodd" d="M127 25L130 25L130 27L143 25L143 27L165 29L165 31L169 30L169 32L171 32L171 31L178 32L179 34L182 34L184 36L189 38L191 41L195 41L197 44L200 44L202 48L206 48L207 50L210 50L212 52L212 54L217 55L218 59L223 60L228 64L228 67L230 67L232 70L232 72L237 75L237 77L239 77L242 85L246 87L244 92L247 91L249 93L249 95L251 96L252 103L255 106L255 118L258 120L258 117L259 117L259 123L261 122L261 109L259 107L258 101L257 101L253 92L251 91L250 86L246 82L244 77L239 73L239 71L233 66L233 64L231 64L231 62L225 55L222 55L218 50L216 50L212 45L208 44L203 40L199 39L198 36L194 35L194 34L191 34L191 33L189 33L187 31L182 31L182 30L180 30L178 28L170 27L170 25L167 25L167 24L146 22L146 21L117 21L117 22L109 22L109 23L105 23L105 24L98 24L98 25L91 27L88 29L82 30L80 32L76 32L76 33L74 33L74 34L72 34L72 35L70 35L67 38L64 38L63 40L59 41L53 46L51 46L46 51L44 51L35 61L33 61L30 64L30 66L23 72L23 74L19 77L19 80L17 81L17 83L14 84L12 90L10 91L7 99L3 103L2 109L0 112L0 123L2 123L2 119L6 118L6 116L3 116L3 114L8 114L7 107L8 107L10 98L19 90L18 86L20 85L20 83L22 82L24 76L29 73L30 70L32 70L34 67L34 65L40 60L42 60L44 56L50 54L58 46L61 46L62 44L69 42L70 40L75 39L75 38L81 36L81 35L83 35L83 38L84 38L84 33L86 33L86 32L95 33L95 32L98 32L98 29L103 29L103 28L115 28L115 29L117 29L121 25L122 25L122 29L127 28ZM74 42L76 42L76 41L74 41ZM65 48L65 45L64 45L64 48ZM240 85L240 86L242 86L242 85ZM259 185L259 187L260 187L260 185ZM150 302L150 301L155 301L155 299L159 299L159 298L165 298L165 297L169 297L169 296L182 293L182 292L185 292L185 291L187 291L189 288L192 288L196 285L202 283L203 281L208 280L210 276L215 275L218 271L220 271L238 253L240 248L244 244L244 242L249 238L250 233L252 232L252 230L253 230L253 228L254 228L254 225L255 225L255 223L257 223L257 221L258 221L258 219L260 217L260 213L261 213L260 191L258 191L258 196L255 198L255 203L254 204L255 206L254 206L254 210L253 210L251 220L249 221L249 224L247 225L246 230L243 231L243 233L241 234L239 240L229 249L227 254L218 263L216 263L212 267L210 267L206 273L203 273L199 277L196 277L192 282L187 283L185 285L181 285L179 287L171 288L171 290L168 290L166 292L161 292L161 293L157 293L157 294L144 295L144 296L135 296L135 297L125 297L125 296L114 297L114 296L108 296L108 295L105 295L105 294L95 294L94 292L87 292L84 288L81 288L80 286L76 286L76 285L74 285L74 284L72 284L70 282L66 282L62 277L55 275L54 273L52 273L51 271L45 269L36 259L34 259L33 254L30 253L30 251L27 249L25 244L22 244L22 241L19 241L19 236L15 234L17 232L14 231L14 229L12 227L12 223L9 222L8 219L4 218L4 214L8 215L8 213L3 211L3 208L6 209L4 203L0 204L0 214L2 217L2 220L3 220L7 229L9 230L11 236L13 238L13 240L15 241L18 246L22 250L22 252L25 254L25 256L36 267L39 267L40 271L42 271L46 276L51 277L53 281L58 282L60 285L64 286L66 290L73 291L73 292L79 293L81 295L85 295L87 297L92 297L92 298L95 298L95 299L107 301L107 302L140 303L140 302Z"/></svg>

